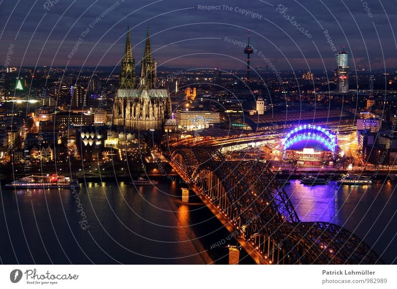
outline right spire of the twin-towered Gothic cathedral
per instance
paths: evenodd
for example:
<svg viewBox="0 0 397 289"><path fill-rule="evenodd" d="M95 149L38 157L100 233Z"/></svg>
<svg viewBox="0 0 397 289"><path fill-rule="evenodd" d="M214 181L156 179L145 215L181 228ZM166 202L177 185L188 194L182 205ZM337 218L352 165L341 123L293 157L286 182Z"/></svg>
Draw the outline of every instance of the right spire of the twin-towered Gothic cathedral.
<svg viewBox="0 0 397 289"><path fill-rule="evenodd" d="M156 77L157 77L157 63L154 61L152 56L152 50L150 47L150 35L149 27L146 31L146 43L145 51L142 57L141 69L140 69L140 88L143 89L154 89L156 88Z"/></svg>

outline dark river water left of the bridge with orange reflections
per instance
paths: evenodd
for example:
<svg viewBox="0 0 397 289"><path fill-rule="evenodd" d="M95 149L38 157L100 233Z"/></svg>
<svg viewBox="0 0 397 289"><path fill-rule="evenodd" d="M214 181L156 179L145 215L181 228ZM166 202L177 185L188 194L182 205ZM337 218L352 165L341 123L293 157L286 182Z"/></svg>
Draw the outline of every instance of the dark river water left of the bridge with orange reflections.
<svg viewBox="0 0 397 289"><path fill-rule="evenodd" d="M169 180L159 182L156 187L135 187L128 182L83 182L78 202L67 189L28 192L2 188L1 261L9 264L203 264L199 254L202 251L198 248L209 246L200 247L201 239L192 243L194 234L190 230L198 217L205 220L212 215L203 206L190 212L189 209L197 206L182 204L178 194L179 186ZM76 213L79 203L89 232L80 227L82 217ZM12 246L18 248L17 260L9 238L2 237L7 236L6 224L11 228ZM210 224L214 229L216 225Z"/></svg>

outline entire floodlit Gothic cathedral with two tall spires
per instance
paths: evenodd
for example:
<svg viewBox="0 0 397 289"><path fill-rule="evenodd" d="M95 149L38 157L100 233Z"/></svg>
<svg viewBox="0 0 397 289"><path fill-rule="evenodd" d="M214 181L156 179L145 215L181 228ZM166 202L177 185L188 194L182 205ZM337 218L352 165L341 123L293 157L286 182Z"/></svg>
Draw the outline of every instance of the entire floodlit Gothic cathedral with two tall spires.
<svg viewBox="0 0 397 289"><path fill-rule="evenodd" d="M156 70L157 63L152 56L147 28L137 84L128 28L124 58L121 62L120 85L113 107L113 125L131 131L163 130L164 122L171 116L171 98L167 89L158 89Z"/></svg>

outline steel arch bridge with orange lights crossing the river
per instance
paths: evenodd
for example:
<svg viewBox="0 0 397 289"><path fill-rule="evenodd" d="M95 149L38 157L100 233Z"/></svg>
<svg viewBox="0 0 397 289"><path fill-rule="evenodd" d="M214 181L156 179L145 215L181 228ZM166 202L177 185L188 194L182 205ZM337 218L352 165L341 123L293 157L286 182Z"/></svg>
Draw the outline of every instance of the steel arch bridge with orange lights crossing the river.
<svg viewBox="0 0 397 289"><path fill-rule="evenodd" d="M262 162L226 161L214 148L178 148L172 162L251 245L262 264L383 264L350 231L328 222L302 222Z"/></svg>

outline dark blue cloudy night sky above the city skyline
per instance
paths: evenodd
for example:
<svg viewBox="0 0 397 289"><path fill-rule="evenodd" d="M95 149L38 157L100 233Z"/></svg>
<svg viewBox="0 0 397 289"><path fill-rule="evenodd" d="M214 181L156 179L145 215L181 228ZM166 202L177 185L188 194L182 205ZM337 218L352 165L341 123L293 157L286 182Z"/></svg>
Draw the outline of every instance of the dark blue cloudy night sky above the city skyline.
<svg viewBox="0 0 397 289"><path fill-rule="evenodd" d="M0 0L0 65L13 44L11 66L116 66L130 25L135 61L149 26L163 67L244 69L244 48L225 39L246 43L251 29L253 67L266 57L277 70L331 70L346 45L351 70L396 68L396 8L396 0Z"/></svg>

